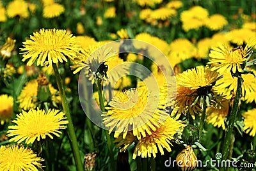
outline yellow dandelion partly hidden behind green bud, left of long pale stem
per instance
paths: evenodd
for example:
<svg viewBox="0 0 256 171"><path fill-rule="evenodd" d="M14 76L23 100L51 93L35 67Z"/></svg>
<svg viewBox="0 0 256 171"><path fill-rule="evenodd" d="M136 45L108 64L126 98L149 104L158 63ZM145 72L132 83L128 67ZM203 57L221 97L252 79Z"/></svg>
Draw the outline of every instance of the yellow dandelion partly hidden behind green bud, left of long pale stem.
<svg viewBox="0 0 256 171"><path fill-rule="evenodd" d="M58 91L52 87L51 84L49 84L49 90L52 94L51 98L52 101L55 103L60 103L60 96L58 94ZM31 108L36 108L37 106L37 92L38 91L38 82L37 80L31 80L26 83L26 85L23 87L22 91L20 92L20 95L17 98L17 101L20 103L19 107L24 110L29 110Z"/></svg>

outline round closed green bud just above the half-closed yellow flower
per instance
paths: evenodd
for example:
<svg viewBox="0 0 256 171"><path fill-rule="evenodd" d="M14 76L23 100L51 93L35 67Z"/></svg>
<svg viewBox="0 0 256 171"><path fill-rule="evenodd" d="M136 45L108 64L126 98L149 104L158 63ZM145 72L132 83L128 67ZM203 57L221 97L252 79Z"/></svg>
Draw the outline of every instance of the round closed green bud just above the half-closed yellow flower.
<svg viewBox="0 0 256 171"><path fill-rule="evenodd" d="M185 126L184 130L182 131L182 140L185 144L192 145L196 140L199 138L199 131L198 128L189 124Z"/></svg>

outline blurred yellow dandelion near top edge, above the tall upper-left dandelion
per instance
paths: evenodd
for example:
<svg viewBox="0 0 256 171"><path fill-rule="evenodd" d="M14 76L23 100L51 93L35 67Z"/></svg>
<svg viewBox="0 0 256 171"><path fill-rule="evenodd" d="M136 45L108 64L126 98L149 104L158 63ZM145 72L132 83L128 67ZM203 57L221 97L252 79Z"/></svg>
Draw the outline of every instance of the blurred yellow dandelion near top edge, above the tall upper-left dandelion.
<svg viewBox="0 0 256 171"><path fill-rule="evenodd" d="M65 11L65 8L62 4L53 3L47 6L44 6L43 17L44 18L54 18L58 17Z"/></svg>

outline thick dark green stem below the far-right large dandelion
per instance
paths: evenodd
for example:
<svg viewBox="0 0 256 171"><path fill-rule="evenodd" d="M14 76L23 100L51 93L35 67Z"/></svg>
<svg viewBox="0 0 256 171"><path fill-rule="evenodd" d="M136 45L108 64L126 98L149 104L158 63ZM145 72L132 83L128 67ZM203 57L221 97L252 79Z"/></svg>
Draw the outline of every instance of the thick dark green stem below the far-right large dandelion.
<svg viewBox="0 0 256 171"><path fill-rule="evenodd" d="M241 75L239 75L238 79L237 79L237 90L236 90L236 97L234 100L234 104L232 107L232 110L230 112L229 115L229 119L228 119L228 126L227 129L225 131L225 139L224 139L224 145L223 145L223 160L227 160L228 158L228 150L230 147L230 140L231 140L231 136L232 136L232 131L234 128L234 123L236 121L236 116L237 116L237 111L239 108L239 101L240 101L240 96L242 93L242 82L243 82L243 78L241 77Z"/></svg>

